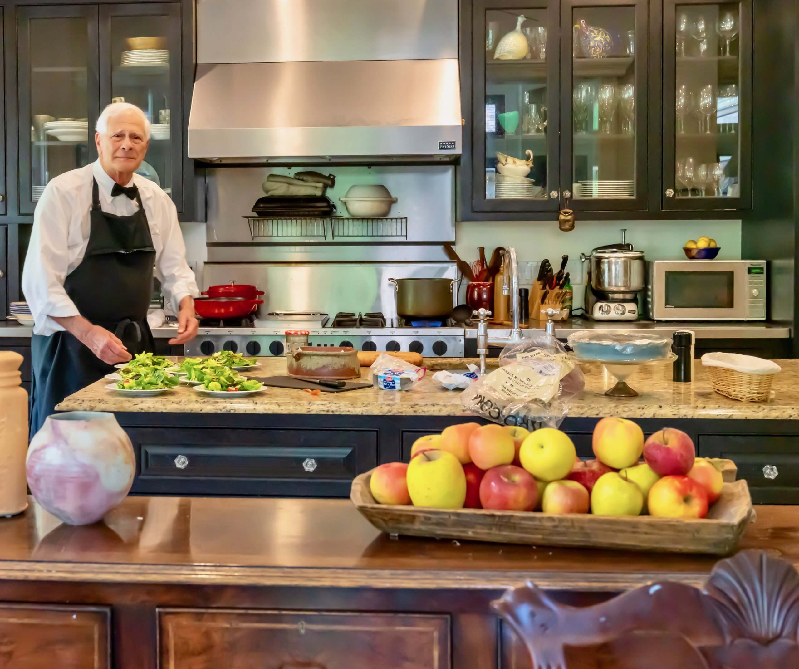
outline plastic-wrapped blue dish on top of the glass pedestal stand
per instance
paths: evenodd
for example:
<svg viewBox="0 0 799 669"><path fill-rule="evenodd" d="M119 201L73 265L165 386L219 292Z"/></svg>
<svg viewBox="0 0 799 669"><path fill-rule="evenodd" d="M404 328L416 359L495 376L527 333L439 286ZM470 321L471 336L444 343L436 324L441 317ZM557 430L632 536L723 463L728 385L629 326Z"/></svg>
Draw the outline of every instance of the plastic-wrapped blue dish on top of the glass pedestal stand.
<svg viewBox="0 0 799 669"><path fill-rule="evenodd" d="M580 360L646 362L666 358L671 338L629 330L582 330L570 334L569 346Z"/></svg>

